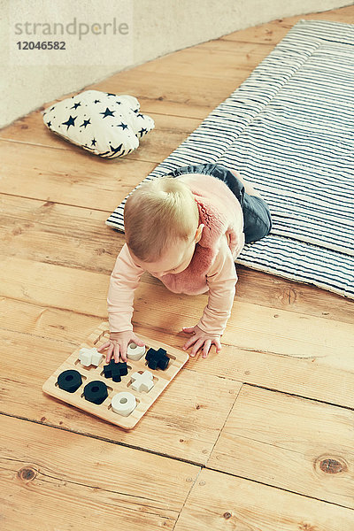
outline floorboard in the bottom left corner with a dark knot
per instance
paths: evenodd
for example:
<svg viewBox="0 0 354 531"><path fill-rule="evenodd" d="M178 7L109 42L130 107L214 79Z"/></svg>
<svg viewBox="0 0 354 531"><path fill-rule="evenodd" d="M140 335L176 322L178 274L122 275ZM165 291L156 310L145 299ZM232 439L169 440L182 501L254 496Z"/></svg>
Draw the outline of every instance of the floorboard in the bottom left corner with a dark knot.
<svg viewBox="0 0 354 531"><path fill-rule="evenodd" d="M173 529L200 471L4 415L0 426L4 531Z"/></svg>

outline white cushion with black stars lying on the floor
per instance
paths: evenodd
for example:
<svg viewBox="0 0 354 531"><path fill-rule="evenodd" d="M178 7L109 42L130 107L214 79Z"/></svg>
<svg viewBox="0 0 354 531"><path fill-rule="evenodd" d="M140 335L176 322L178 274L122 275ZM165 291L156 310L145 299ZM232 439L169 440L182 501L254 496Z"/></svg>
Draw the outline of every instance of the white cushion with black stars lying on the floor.
<svg viewBox="0 0 354 531"><path fill-rule="evenodd" d="M66 140L104 158L124 157L155 127L136 97L86 90L43 112L44 124Z"/></svg>

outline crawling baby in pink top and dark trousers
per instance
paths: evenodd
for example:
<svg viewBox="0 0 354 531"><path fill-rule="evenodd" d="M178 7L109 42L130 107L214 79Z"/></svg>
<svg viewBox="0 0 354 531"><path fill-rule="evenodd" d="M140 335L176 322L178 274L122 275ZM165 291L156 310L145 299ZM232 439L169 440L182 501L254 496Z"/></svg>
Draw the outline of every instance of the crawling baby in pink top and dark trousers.
<svg viewBox="0 0 354 531"><path fill-rule="evenodd" d="M108 291L110 340L107 362L127 361L127 345L144 343L131 323L135 289L148 271L174 293L208 292L199 322L182 331L183 349L206 358L221 349L235 297L235 258L245 242L268 235L272 220L263 198L239 173L222 165L177 168L143 183L124 209L126 243L116 260Z"/></svg>

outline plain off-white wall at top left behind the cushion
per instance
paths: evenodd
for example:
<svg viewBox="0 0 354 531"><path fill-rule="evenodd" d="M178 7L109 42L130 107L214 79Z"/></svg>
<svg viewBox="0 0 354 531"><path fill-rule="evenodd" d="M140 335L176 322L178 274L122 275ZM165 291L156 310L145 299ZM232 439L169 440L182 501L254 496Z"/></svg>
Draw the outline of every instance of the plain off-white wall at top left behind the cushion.
<svg viewBox="0 0 354 531"><path fill-rule="evenodd" d="M0 127L112 73L264 22L324 12L350 0L0 0ZM89 35L53 36L54 22L98 23ZM115 18L122 34L104 22ZM25 22L29 22L25 35ZM38 23L34 27L34 23ZM15 24L21 24L15 29ZM39 26L41 24L42 26ZM47 24L44 29L44 24ZM93 35L101 27L101 35ZM21 35L19 29L22 31ZM78 28L76 28L78 30ZM35 30L35 35L33 35ZM72 26L73 30L73 26ZM44 34L44 31L47 34ZM83 30L84 31L84 30ZM124 34L124 35L123 35ZM67 41L69 50L17 50L19 40ZM70 45L70 46L69 46Z"/></svg>

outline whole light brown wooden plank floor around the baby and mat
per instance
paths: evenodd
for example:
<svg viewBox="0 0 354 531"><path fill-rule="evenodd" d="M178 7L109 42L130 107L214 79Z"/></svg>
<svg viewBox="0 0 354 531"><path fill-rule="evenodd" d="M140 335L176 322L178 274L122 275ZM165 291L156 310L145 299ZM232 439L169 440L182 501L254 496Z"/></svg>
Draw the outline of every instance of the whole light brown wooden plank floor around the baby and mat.
<svg viewBox="0 0 354 531"><path fill-rule="evenodd" d="M354 529L354 307L340 296L240 268L221 353L190 359L132 432L42 394L107 317L123 244L109 213L301 18L354 23L354 6L235 32L89 87L134 95L155 120L127 158L61 141L40 112L0 131L2 530ZM181 346L205 300L145 275L136 332Z"/></svg>

